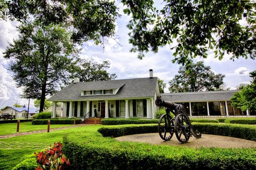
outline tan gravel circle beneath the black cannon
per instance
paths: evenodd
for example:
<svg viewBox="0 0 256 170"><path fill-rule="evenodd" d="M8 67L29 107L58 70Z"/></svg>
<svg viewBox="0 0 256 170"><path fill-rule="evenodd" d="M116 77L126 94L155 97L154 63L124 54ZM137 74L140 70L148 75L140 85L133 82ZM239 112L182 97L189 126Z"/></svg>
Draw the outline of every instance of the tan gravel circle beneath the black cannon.
<svg viewBox="0 0 256 170"><path fill-rule="evenodd" d="M206 135L202 134L201 138L194 136L189 138L185 144L181 144L175 134L170 141L163 141L158 133L144 133L136 135L127 135L116 138L118 141L134 141L149 144L172 145L182 147L220 147L220 148L256 148L256 141L249 141L246 139L233 138L220 135Z"/></svg>

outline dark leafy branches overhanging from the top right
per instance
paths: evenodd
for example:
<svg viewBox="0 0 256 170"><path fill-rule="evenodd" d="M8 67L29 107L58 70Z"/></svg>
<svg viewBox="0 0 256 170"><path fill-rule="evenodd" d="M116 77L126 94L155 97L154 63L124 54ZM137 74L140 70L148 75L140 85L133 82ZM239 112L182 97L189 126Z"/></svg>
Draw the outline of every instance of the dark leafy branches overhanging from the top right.
<svg viewBox="0 0 256 170"><path fill-rule="evenodd" d="M163 0L163 9L154 8L153 0L122 0L132 14L131 52L144 57L149 50L177 40L173 62L191 63L192 58L207 58L209 49L222 59L256 58L256 3L253 0ZM247 25L242 25L247 21Z"/></svg>

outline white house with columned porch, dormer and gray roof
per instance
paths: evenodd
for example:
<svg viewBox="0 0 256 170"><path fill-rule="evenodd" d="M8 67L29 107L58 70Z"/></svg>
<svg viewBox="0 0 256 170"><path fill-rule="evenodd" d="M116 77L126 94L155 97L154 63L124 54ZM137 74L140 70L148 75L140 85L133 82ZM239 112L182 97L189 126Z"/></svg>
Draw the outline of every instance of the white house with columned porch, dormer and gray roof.
<svg viewBox="0 0 256 170"><path fill-rule="evenodd" d="M57 92L48 101L63 102L63 117L141 117L154 118L154 101L160 97L157 77L150 69L148 78L74 83Z"/></svg>

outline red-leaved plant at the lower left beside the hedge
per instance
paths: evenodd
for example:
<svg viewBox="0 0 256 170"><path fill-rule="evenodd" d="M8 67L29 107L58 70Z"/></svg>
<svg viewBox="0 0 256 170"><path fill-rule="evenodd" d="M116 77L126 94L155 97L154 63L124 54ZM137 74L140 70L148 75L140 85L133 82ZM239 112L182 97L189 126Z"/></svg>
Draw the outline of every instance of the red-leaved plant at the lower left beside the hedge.
<svg viewBox="0 0 256 170"><path fill-rule="evenodd" d="M37 159L38 168L35 170L67 170L70 166L69 159L62 154L62 144L58 142L44 152L34 153Z"/></svg>

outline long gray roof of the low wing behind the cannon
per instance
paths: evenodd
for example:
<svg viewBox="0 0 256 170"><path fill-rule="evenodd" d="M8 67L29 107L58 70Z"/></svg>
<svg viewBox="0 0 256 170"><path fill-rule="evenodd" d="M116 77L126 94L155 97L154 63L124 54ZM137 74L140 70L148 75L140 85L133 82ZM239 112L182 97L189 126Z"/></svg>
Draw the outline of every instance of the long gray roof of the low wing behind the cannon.
<svg viewBox="0 0 256 170"><path fill-rule="evenodd" d="M207 92L180 92L163 93L161 98L172 102L193 102L193 101L229 101L235 92L239 90L207 91Z"/></svg>

